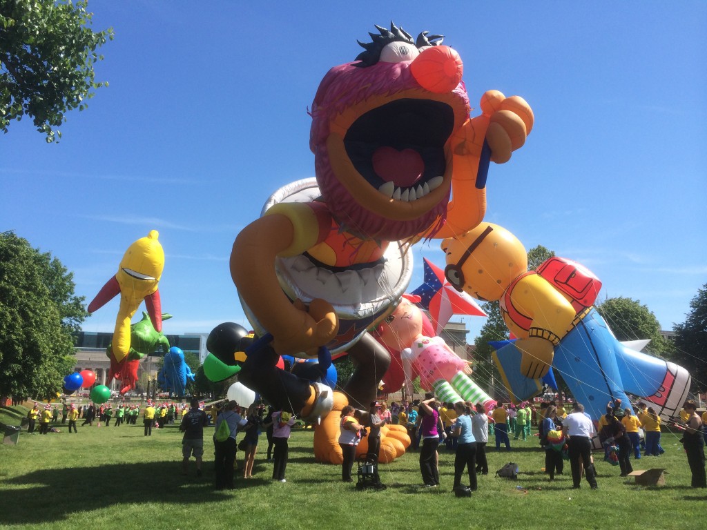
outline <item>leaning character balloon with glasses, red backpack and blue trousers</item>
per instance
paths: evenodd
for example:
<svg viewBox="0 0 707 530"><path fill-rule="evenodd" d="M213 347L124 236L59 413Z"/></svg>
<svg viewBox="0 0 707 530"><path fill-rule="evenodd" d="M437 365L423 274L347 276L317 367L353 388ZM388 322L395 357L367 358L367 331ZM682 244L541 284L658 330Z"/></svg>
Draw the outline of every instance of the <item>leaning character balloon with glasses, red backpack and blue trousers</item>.
<svg viewBox="0 0 707 530"><path fill-rule="evenodd" d="M664 418L679 410L689 373L614 337L592 306L602 284L584 266L552 257L527 271L522 243L491 223L445 239L442 249L448 281L478 300L498 300L503 321L518 338L493 354L515 401L537 394L552 366L593 420L607 401L630 403L625 392L644 396Z"/></svg>

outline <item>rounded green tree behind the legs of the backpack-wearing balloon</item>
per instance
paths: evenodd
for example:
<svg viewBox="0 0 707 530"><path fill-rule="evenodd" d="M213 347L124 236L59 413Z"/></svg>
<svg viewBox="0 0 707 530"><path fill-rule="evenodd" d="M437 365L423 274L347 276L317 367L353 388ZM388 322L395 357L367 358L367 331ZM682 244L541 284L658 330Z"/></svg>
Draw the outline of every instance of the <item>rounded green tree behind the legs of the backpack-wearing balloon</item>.
<svg viewBox="0 0 707 530"><path fill-rule="evenodd" d="M660 334L658 319L640 301L623 297L607 298L596 307L619 341L650 338L646 352L660 357L672 357L672 344Z"/></svg>

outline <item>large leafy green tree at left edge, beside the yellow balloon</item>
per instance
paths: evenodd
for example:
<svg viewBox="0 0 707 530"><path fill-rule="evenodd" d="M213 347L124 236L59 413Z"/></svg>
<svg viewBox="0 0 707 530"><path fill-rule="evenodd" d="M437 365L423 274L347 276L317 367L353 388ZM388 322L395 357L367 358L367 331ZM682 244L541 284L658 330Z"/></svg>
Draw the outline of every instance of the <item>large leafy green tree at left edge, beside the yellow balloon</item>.
<svg viewBox="0 0 707 530"><path fill-rule="evenodd" d="M71 331L88 316L73 278L49 253L0 233L0 396L62 389L75 363Z"/></svg>

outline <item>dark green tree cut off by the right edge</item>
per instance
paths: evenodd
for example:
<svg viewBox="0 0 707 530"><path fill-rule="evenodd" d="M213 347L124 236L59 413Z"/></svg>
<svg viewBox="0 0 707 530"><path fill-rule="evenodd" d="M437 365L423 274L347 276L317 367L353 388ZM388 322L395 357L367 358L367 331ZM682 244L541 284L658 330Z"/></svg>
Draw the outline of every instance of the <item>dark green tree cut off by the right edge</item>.
<svg viewBox="0 0 707 530"><path fill-rule="evenodd" d="M683 324L674 324L675 360L692 376L696 389L707 389L707 283L690 301Z"/></svg>

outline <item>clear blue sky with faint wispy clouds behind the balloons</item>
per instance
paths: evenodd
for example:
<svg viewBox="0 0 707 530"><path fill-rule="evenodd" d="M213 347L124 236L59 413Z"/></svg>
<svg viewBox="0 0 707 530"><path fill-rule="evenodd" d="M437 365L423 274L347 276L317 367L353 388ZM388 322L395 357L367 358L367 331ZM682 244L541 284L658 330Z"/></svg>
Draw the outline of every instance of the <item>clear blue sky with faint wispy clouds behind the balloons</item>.
<svg viewBox="0 0 707 530"><path fill-rule="evenodd" d="M57 145L29 119L0 137L0 230L58 257L87 304L156 229L165 332L248 326L228 272L235 235L274 190L314 175L317 86L391 20L445 35L472 105L493 88L534 110L525 146L491 165L487 220L585 264L602 298L640 300L663 329L707 283L703 1L89 7L95 30L115 29L96 66L110 86L68 114ZM423 257L443 265L437 242L416 245L409 290ZM112 331L116 313L114 301L84 329ZM483 319L463 320L471 341Z"/></svg>

